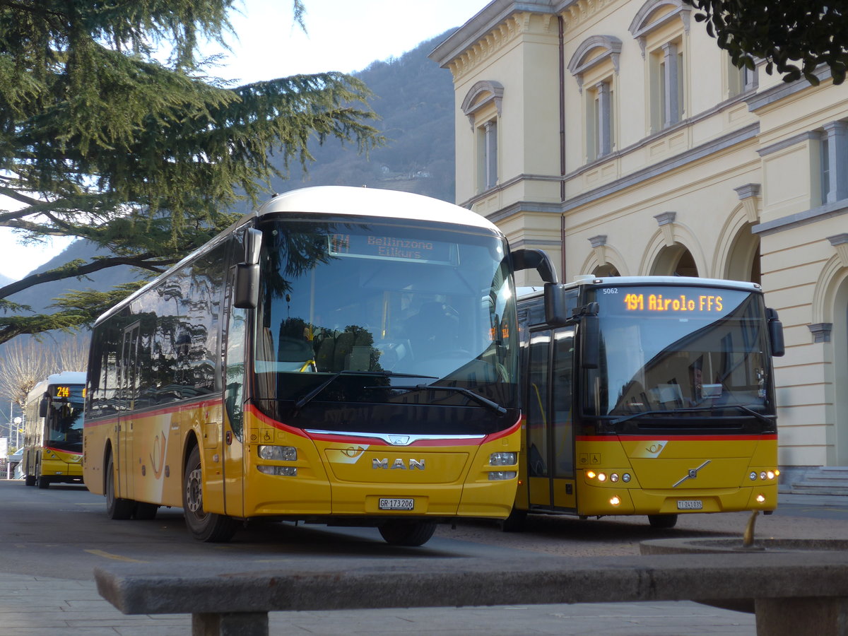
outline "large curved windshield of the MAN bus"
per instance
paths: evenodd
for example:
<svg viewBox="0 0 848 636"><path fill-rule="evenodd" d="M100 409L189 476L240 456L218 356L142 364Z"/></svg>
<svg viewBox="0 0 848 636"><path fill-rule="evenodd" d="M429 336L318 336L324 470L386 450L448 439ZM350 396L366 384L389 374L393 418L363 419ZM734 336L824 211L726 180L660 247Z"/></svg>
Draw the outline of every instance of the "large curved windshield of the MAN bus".
<svg viewBox="0 0 848 636"><path fill-rule="evenodd" d="M359 421L366 430L390 430L394 418L404 430L433 432L447 424L417 411L353 418L338 409L452 405L476 412L466 431L503 428L492 424L493 414L517 406L518 343L502 237L465 226L307 215L266 220L259 229L254 396L261 409L286 421L311 410L304 427L348 430L346 421ZM318 416L321 408L336 415Z"/></svg>

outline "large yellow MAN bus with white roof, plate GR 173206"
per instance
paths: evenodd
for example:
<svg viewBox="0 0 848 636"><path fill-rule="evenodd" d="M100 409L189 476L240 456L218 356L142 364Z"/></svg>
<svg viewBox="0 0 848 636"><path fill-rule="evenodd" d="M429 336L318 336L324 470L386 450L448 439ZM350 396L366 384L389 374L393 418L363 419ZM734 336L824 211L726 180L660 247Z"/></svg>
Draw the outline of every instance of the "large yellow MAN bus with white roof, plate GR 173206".
<svg viewBox="0 0 848 636"><path fill-rule="evenodd" d="M373 526L505 518L521 444L510 253L479 215L404 192L272 198L94 325L86 485L110 517L181 506Z"/></svg>

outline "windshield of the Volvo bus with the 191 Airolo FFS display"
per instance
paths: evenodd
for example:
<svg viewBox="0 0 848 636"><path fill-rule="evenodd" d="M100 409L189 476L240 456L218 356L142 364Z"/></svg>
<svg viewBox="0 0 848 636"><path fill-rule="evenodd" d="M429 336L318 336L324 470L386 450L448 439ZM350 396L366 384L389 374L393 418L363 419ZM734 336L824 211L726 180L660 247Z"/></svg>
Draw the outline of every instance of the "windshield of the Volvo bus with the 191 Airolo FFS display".
<svg viewBox="0 0 848 636"><path fill-rule="evenodd" d="M774 412L762 295L706 287L600 287L600 365L584 412L645 420ZM629 417L628 417L629 416ZM773 423L773 422L772 422Z"/></svg>

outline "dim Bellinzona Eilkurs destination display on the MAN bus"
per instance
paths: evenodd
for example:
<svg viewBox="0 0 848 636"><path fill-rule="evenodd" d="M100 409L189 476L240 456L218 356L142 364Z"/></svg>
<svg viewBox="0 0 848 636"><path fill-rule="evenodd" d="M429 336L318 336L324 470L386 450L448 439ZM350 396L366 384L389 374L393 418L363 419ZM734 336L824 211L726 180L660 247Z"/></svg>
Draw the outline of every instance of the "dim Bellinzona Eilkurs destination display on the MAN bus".
<svg viewBox="0 0 848 636"><path fill-rule="evenodd" d="M332 234L327 238L332 256L415 260L442 265L455 265L456 260L455 243L373 234Z"/></svg>

